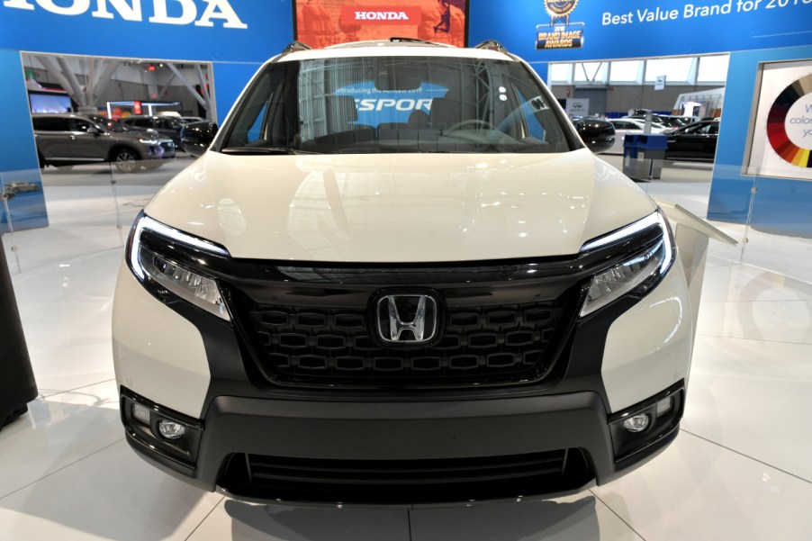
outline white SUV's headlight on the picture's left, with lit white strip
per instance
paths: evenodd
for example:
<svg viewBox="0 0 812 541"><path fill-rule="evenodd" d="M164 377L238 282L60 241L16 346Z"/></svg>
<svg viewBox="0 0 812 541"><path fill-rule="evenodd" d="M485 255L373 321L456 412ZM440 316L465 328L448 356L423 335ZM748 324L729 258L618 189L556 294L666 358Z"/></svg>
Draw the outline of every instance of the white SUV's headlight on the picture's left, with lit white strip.
<svg viewBox="0 0 812 541"><path fill-rule="evenodd" d="M171 241L210 254L228 257L229 253L216 244L152 220L142 212L131 231L127 258L132 273L142 284L148 285L152 281L186 302L191 302L223 320L230 320L228 308L222 299L217 282L144 246L141 243L141 235L145 231L158 233Z"/></svg>

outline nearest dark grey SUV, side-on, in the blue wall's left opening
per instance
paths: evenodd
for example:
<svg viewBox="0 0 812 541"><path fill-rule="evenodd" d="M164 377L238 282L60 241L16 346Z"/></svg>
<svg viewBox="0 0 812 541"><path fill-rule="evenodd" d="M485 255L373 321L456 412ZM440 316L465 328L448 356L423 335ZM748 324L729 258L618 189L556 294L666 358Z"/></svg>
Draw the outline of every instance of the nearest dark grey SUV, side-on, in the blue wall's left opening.
<svg viewBox="0 0 812 541"><path fill-rule="evenodd" d="M163 163L165 150L154 133L109 131L77 114L32 115L40 167L112 162L122 173Z"/></svg>

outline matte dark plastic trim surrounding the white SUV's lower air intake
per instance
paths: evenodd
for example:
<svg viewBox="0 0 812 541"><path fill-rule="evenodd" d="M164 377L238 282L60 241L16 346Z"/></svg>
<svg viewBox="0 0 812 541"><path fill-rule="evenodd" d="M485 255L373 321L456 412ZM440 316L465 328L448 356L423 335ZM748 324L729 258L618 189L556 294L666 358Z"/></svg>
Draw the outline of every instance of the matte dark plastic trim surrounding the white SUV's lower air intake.
<svg viewBox="0 0 812 541"><path fill-rule="evenodd" d="M658 393L650 402L660 397ZM556 449L579 449L585 462L583 476L563 485L527 487L500 485L489 491L489 483L447 491L427 497L404 492L390 496L387 505L456 503L468 500L528 498L578 490L595 479L603 484L659 454L677 436L675 427L645 449L616 461L612 452L609 419L600 397L594 392L573 392L555 396L512 399L455 401L438 409L434 401L377 403L373 408L359 402L255 400L220 396L204 416L200 453L194 465L180 464L154 447L144 445L127 433L130 445L149 462L204 490L220 490L238 499L284 501L334 505L381 504L367 491L358 496L351 487L309 493L297 485L280 485L278 490L253 491L245 479L230 481L227 467L235 454L290 457L290 460L402 461L440 460L545 453ZM284 434L285 437L279 437ZM500 434L500 437L483 437ZM239 477L238 477L239 481ZM285 488L287 486L287 488ZM507 488L506 488L507 487ZM302 487L303 488L303 487ZM329 487L326 487L329 489ZM463 487L464 489L466 487ZM326 494L326 495L325 495ZM471 496L473 495L473 496ZM420 496L420 497L419 497ZM278 499L278 500L277 500Z"/></svg>

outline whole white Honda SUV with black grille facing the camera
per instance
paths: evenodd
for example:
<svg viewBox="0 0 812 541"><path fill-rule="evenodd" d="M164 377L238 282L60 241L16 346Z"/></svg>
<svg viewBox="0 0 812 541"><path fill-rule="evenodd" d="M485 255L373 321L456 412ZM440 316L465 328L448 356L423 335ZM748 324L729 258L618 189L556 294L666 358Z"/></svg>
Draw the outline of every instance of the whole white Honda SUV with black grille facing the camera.
<svg viewBox="0 0 812 541"><path fill-rule="evenodd" d="M243 500L609 482L677 436L711 234L495 42L292 44L131 230L127 440Z"/></svg>

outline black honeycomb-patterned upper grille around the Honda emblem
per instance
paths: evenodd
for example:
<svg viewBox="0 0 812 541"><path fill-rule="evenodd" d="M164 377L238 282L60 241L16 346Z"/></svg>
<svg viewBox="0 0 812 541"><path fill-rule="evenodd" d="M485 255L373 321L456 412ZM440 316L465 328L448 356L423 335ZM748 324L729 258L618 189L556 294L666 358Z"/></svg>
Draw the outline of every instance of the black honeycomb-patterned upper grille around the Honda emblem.
<svg viewBox="0 0 812 541"><path fill-rule="evenodd" d="M361 308L248 302L262 372L282 383L440 386L543 377L562 302L447 308L442 338L429 347L383 347Z"/></svg>

